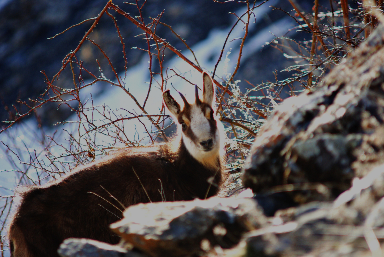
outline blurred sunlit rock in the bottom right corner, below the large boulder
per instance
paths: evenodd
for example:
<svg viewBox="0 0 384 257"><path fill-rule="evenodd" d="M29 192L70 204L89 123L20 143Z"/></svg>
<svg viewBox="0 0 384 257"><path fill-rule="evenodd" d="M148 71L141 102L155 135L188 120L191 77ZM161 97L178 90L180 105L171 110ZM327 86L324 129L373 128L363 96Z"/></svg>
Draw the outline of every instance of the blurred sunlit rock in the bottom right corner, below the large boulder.
<svg viewBox="0 0 384 257"><path fill-rule="evenodd" d="M384 165L380 165L354 180L333 203L278 211L271 219L275 225L247 234L247 256L382 256L383 196Z"/></svg>

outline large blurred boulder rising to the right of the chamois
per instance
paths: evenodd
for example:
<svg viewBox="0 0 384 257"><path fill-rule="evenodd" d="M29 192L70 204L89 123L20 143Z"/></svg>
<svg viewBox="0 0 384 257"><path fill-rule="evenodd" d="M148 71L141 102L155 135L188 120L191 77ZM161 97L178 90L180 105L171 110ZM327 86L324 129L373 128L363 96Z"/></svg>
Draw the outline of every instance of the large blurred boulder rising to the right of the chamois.
<svg viewBox="0 0 384 257"><path fill-rule="evenodd" d="M262 127L243 170L254 193L329 201L384 160L384 27L313 92L286 99Z"/></svg>

